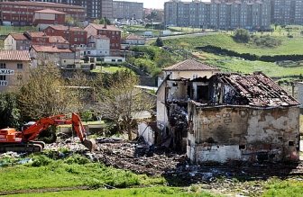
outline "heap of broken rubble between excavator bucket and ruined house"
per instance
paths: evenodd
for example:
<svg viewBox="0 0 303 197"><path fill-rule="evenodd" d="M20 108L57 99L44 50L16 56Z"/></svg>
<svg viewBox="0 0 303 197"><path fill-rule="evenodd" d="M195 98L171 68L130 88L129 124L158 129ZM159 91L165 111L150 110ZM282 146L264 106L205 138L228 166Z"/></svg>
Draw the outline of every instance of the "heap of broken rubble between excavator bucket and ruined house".
<svg viewBox="0 0 303 197"><path fill-rule="evenodd" d="M135 143L97 143L96 159L106 166L131 170L136 174L164 175L187 161L169 148Z"/></svg>

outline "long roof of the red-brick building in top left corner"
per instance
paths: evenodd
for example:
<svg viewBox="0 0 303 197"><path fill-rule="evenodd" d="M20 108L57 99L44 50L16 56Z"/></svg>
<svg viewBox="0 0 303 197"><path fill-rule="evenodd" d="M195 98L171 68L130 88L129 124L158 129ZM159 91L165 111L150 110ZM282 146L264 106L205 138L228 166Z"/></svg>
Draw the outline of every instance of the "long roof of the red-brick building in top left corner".
<svg viewBox="0 0 303 197"><path fill-rule="evenodd" d="M60 8L69 8L69 9L83 9L85 10L85 7L81 7L78 5L69 5L69 4L58 4L58 3L49 3L49 2L0 2L0 4L14 4L14 5L23 5L23 6L42 6L42 7L60 7Z"/></svg>

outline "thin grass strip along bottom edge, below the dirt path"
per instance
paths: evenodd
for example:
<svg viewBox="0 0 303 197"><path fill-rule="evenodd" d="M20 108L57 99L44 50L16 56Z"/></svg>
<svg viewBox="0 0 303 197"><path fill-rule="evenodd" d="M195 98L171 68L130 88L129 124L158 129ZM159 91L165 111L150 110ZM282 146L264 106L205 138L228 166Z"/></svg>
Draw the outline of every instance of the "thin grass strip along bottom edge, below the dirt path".
<svg viewBox="0 0 303 197"><path fill-rule="evenodd" d="M69 191L60 193L31 193L31 194L17 194L8 196L98 196L98 197L124 197L124 196L144 196L144 197L214 197L214 195L206 192L191 193L184 191L182 188L176 187L145 187L145 188L132 188L121 190L90 190L90 191Z"/></svg>

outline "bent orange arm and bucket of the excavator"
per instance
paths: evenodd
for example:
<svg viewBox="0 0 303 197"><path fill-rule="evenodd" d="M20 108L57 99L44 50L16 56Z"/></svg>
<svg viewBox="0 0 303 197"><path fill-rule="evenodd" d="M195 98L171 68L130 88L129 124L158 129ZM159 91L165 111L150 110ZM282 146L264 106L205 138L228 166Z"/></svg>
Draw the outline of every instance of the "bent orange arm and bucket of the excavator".
<svg viewBox="0 0 303 197"><path fill-rule="evenodd" d="M81 140L81 143L89 149L89 151L94 151L96 148L96 141L94 139L87 139L85 129L83 127L82 121L78 114L72 113L71 120L61 119L65 117L65 114L41 118L39 121L36 121L32 126L23 130L21 136L23 141L36 140L37 136L41 133L42 130L46 130L49 126L58 126L71 124L73 129L77 132L78 138Z"/></svg>

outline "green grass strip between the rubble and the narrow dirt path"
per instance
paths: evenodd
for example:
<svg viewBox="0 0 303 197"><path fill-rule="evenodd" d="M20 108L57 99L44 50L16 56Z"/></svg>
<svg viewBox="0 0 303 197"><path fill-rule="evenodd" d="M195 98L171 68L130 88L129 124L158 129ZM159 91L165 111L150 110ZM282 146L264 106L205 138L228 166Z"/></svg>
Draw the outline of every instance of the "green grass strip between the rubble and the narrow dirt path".
<svg viewBox="0 0 303 197"><path fill-rule="evenodd" d="M84 157L51 160L35 157L32 164L0 168L0 192L27 189L62 188L72 186L102 187L109 184L117 188L134 185L164 184L162 177L135 175L130 171L87 163Z"/></svg>

